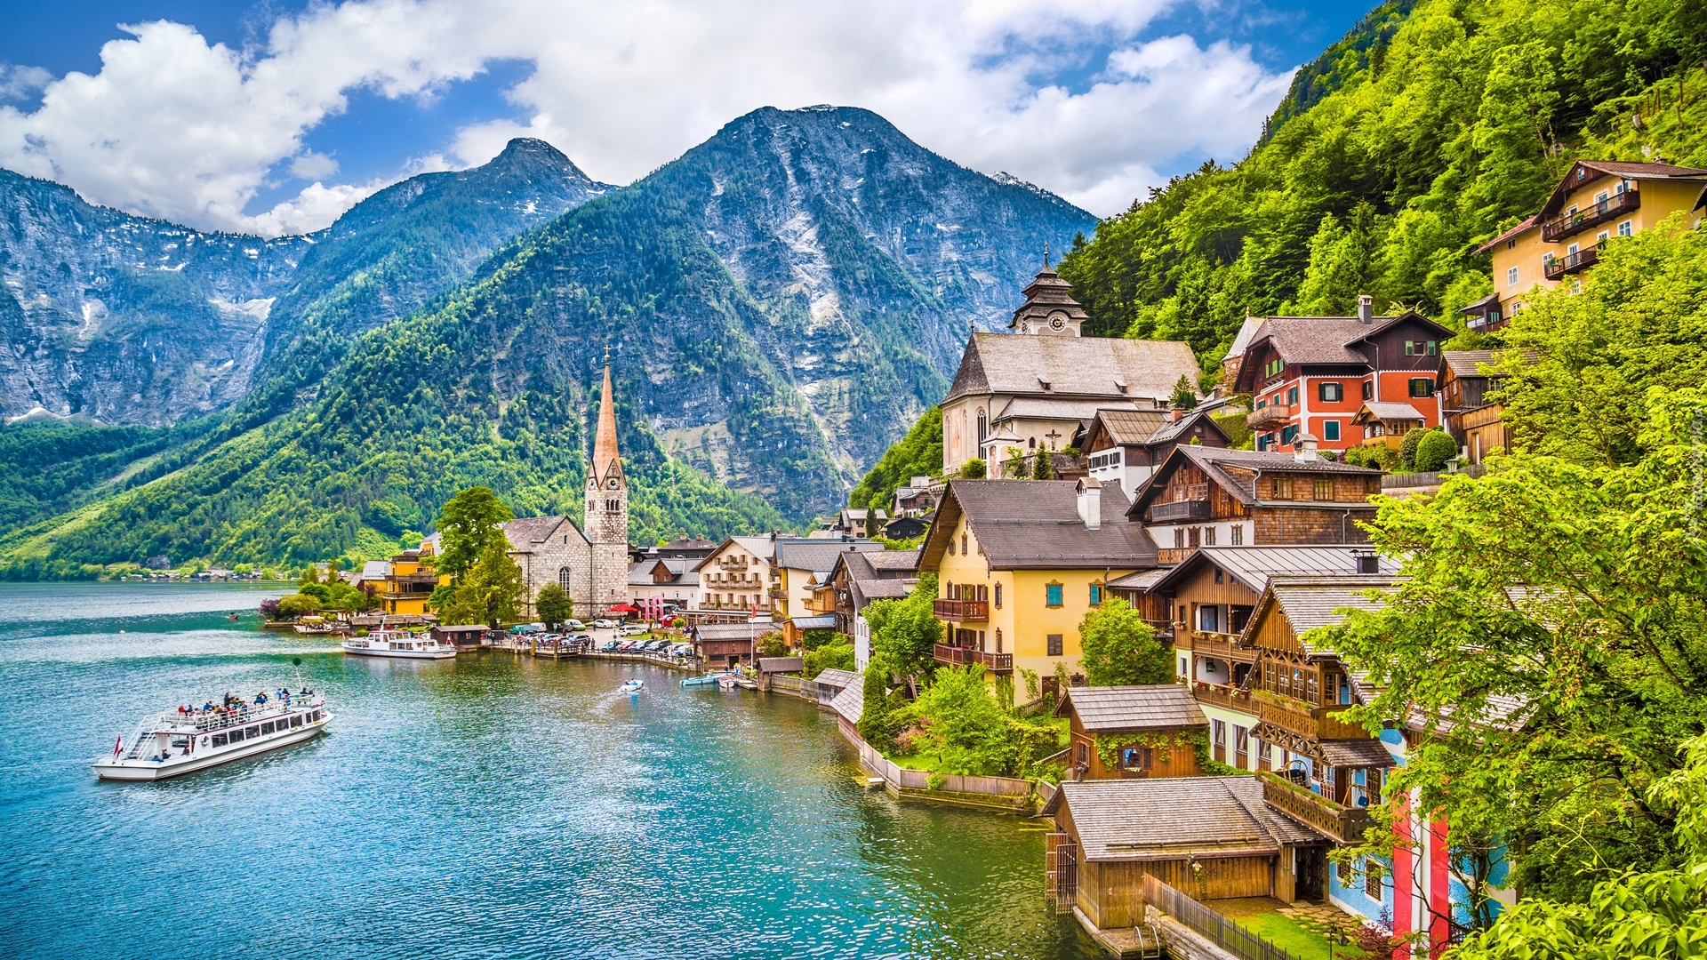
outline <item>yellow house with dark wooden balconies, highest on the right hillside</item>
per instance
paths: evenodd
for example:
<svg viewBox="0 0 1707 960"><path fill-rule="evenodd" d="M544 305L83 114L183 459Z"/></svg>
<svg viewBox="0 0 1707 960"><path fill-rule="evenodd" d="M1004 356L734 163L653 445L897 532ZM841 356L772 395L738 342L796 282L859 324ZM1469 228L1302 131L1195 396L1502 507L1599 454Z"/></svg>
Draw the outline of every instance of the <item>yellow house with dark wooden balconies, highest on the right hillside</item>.
<svg viewBox="0 0 1707 960"><path fill-rule="evenodd" d="M1698 227L1707 171L1671 164L1577 161L1541 210L1477 248L1494 255L1494 292L1465 307L1471 330L1499 330L1529 290L1553 289L1594 266L1617 237L1678 210Z"/></svg>

